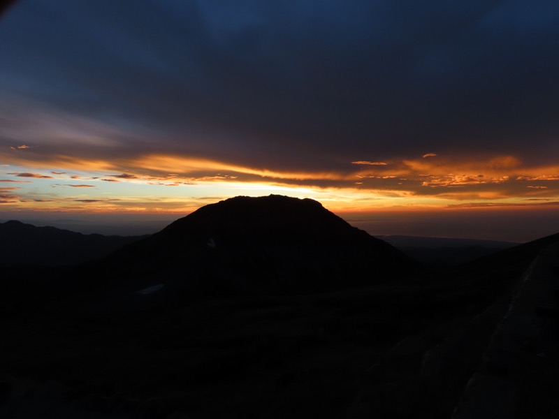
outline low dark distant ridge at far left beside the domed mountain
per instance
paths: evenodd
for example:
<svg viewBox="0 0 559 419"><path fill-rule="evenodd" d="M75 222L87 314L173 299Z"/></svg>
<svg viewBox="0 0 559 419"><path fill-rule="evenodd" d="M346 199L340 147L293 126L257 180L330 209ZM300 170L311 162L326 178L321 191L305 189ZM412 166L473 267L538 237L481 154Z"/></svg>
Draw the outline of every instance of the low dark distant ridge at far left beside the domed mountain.
<svg viewBox="0 0 559 419"><path fill-rule="evenodd" d="M1 266L61 266L109 255L141 237L84 235L20 221L0 223Z"/></svg>

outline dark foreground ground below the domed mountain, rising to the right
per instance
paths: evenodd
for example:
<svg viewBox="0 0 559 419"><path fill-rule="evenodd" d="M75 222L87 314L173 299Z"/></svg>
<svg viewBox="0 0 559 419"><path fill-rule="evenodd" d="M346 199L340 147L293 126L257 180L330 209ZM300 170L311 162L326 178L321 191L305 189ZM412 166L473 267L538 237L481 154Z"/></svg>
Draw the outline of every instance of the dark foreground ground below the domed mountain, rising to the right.
<svg viewBox="0 0 559 419"><path fill-rule="evenodd" d="M122 310L6 272L0 417L556 418L556 240L370 288Z"/></svg>

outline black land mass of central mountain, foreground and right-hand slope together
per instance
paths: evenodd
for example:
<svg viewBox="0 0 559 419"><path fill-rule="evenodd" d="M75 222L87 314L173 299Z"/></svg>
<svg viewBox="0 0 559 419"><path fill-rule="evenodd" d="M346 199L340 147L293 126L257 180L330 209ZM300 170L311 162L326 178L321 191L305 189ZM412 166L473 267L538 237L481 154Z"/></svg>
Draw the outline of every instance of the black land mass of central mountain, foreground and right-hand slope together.
<svg viewBox="0 0 559 419"><path fill-rule="evenodd" d="M312 200L208 205L8 288L0 416L553 418L558 242L433 273Z"/></svg>

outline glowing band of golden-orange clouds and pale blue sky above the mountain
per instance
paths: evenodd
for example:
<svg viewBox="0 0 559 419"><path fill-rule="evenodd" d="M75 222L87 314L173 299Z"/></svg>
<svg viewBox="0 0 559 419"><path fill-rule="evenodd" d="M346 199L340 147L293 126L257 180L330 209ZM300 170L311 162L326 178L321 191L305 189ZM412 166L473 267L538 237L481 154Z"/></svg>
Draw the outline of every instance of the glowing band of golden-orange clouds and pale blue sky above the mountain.
<svg viewBox="0 0 559 419"><path fill-rule="evenodd" d="M27 159L20 157L18 166L0 174L1 182L27 182L17 195L4 191L4 207L184 212L205 205L208 197L217 201L269 193L317 199L337 211L559 200L559 166L527 166L509 155L349 161L324 171L252 168L179 154L85 159L27 151ZM73 196L71 191L78 189L84 193Z"/></svg>

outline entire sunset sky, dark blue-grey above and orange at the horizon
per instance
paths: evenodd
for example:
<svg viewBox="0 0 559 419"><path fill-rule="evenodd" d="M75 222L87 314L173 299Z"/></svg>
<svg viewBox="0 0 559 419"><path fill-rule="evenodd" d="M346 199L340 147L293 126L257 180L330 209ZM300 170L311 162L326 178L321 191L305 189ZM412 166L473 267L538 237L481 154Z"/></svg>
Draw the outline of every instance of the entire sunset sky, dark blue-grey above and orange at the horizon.
<svg viewBox="0 0 559 419"><path fill-rule="evenodd" d="M20 0L0 221L152 233L232 196L377 235L559 233L559 2Z"/></svg>

